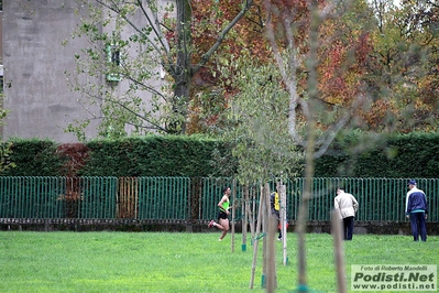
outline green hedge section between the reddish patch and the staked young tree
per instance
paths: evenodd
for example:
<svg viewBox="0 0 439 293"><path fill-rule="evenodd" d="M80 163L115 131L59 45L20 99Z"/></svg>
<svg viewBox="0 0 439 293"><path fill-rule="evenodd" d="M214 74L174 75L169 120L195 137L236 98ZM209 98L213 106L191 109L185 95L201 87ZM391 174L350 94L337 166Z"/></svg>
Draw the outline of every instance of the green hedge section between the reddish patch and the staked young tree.
<svg viewBox="0 0 439 293"><path fill-rule="evenodd" d="M89 160L83 176L223 176L212 153L227 153L224 145L197 137L147 135L87 143ZM230 175L230 174L229 174Z"/></svg>

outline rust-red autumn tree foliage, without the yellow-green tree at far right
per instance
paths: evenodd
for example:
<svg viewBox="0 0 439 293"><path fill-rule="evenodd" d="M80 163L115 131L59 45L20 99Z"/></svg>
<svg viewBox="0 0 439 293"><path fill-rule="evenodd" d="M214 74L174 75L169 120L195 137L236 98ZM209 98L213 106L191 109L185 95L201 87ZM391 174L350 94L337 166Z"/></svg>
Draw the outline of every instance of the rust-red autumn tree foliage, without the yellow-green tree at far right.
<svg viewBox="0 0 439 293"><path fill-rule="evenodd" d="M306 42L309 28L307 1L275 0L270 2L272 8L277 8L276 13L270 14L270 21L277 28L282 24L282 13L294 11L289 21L295 23L297 31L295 36L297 48L300 50L301 54L306 54L309 51L309 44ZM222 17L223 13L224 15L233 13L235 6L233 1L224 1L221 2L219 8L220 10L216 12L218 14L210 15L206 11L205 1L196 1L194 4L194 15L199 18L200 22L205 19L210 20L206 30L199 34L204 40L209 40L209 35L211 35L209 32L215 31L213 28L222 25L222 21L218 20L218 17ZM318 53L321 58L319 64L319 91L321 96L319 98L323 107L328 109L352 104L353 97L361 90L359 84L365 74L365 62L372 47L369 31L361 29L364 25L370 25L367 15L371 13L367 13L367 7L363 4L350 9L355 10L351 13L351 18L333 18L319 32L321 37L325 39ZM193 87L194 100L189 132L205 132L208 131L208 127L220 127L221 112L228 107L230 97L240 90L233 88L230 80L230 78L233 78L232 75L221 76L218 72L219 66L235 66L232 65L231 59L238 57L257 59L261 64L273 63L271 44L266 39L266 6L264 1L255 1L246 17L233 28L229 37L224 40L224 46L212 56L205 68L198 72L194 79L198 84ZM287 36L282 30L276 29L276 42L279 47L284 47L287 43ZM210 42L212 41L213 39L210 40ZM205 41L204 44L208 43ZM233 70L233 68L230 69ZM298 87L306 88L306 68L299 68L297 78Z"/></svg>

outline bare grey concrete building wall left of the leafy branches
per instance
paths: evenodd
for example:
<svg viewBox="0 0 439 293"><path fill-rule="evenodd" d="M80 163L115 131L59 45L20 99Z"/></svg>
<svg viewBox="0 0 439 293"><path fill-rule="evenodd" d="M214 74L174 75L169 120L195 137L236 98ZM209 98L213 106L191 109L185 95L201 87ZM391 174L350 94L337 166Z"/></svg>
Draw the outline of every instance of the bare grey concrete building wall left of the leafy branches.
<svg viewBox="0 0 439 293"><path fill-rule="evenodd" d="M77 142L64 129L88 113L78 101L79 94L68 87L65 72L74 73L75 53L88 45L85 40L72 39L81 13L85 8L75 0L3 2L3 108L11 111L4 121L4 140L19 137ZM105 76L96 83L106 83ZM119 87L123 93L123 82ZM150 97L145 94L142 99ZM98 108L88 110L99 113ZM96 137L98 123L96 120L87 128L87 139Z"/></svg>

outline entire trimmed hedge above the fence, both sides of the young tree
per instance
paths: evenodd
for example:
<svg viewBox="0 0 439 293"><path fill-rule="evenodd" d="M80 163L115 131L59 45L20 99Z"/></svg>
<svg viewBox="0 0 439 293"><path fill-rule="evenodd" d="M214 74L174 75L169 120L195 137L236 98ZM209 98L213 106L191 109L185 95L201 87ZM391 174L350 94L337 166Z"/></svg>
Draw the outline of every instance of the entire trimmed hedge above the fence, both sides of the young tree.
<svg viewBox="0 0 439 293"><path fill-rule="evenodd" d="M230 149L204 137L146 135L58 144L13 139L2 176L233 176ZM354 145L354 146L353 146ZM224 163L226 162L226 163ZM316 177L438 177L439 133L349 137L316 161Z"/></svg>

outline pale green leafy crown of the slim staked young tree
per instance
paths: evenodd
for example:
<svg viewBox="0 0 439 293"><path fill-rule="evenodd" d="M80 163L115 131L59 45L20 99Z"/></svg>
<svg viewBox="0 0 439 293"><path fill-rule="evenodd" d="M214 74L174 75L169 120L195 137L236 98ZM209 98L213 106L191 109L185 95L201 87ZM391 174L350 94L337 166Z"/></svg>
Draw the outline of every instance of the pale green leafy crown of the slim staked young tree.
<svg viewBox="0 0 439 293"><path fill-rule="evenodd" d="M264 184L299 174L303 156L288 133L288 94L277 68L245 56L231 63L220 72L226 79L233 74L232 86L240 91L230 97L218 134L233 146L238 180Z"/></svg>

